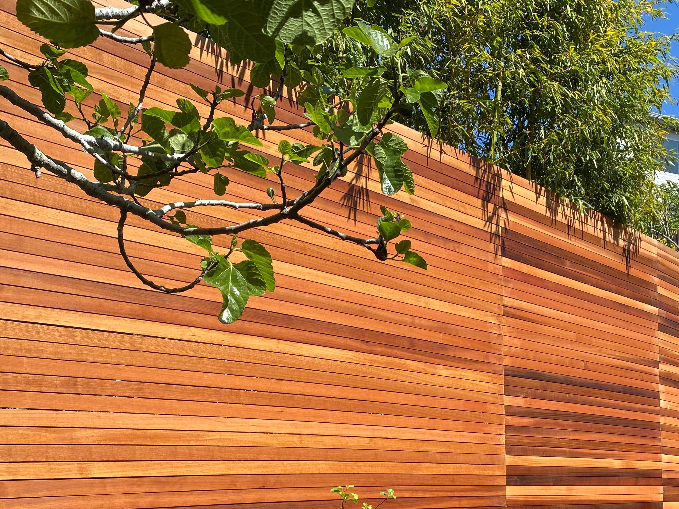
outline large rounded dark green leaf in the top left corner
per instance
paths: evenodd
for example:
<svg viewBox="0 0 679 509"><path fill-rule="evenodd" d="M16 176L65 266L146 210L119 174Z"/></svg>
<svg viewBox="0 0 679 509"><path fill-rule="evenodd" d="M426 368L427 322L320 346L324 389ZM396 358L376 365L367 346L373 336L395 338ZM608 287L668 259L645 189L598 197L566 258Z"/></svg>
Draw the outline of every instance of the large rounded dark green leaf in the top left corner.
<svg viewBox="0 0 679 509"><path fill-rule="evenodd" d="M99 37L90 0L18 0L16 17L61 48L86 46Z"/></svg>

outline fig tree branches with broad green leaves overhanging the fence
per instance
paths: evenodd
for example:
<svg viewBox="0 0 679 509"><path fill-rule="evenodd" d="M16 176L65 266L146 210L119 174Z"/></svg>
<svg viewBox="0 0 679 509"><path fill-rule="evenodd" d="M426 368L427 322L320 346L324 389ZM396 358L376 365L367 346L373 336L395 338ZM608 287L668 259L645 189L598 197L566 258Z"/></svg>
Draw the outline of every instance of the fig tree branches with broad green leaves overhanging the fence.
<svg viewBox="0 0 679 509"><path fill-rule="evenodd" d="M411 241L397 242L411 227L399 212L382 207L382 216L375 221L375 237L369 239L336 231L304 215L304 208L345 176L363 155L373 159L386 195L414 193L413 174L401 159L407 145L383 128L399 115L409 115L415 103L436 115L445 89L445 83L426 71L404 65L403 55L412 38L394 38L381 26L365 23L353 7L353 0L155 0L126 9L95 9L90 0L18 0L17 18L45 38L40 48L44 58L23 62L4 50L1 54L12 64L11 73L28 75L42 104L29 102L12 86L0 85L0 96L35 117L45 129L56 130L80 145L92 157L94 179L42 153L3 119L0 136L29 159L36 176L47 170L120 209L120 252L141 282L166 293L189 290L201 281L219 288L223 296L219 320L225 323L238 320L250 297L276 288L272 257L265 246L238 238L253 228L296 221L362 246L380 261L401 261L426 269L426 261L411 250ZM117 33L130 20L149 13L164 18L153 25L152 35L132 38ZM220 116L219 104L244 92L219 85L213 90L191 85L195 100L208 107L206 117L201 117L194 101L183 97L177 98L176 109L145 107L154 69L159 64L180 69L189 63L192 45L183 26L223 45L232 63L254 62L251 83L265 92L253 98L249 125ZM127 111L106 90L95 92L86 64L67 53L99 37L121 45L141 44L147 54L139 100L130 103ZM385 77L386 68L397 71ZM10 72L0 67L0 79L9 77ZM286 86L298 89L299 104L308 121L274 124L276 105ZM93 108L90 96L100 97ZM257 151L263 145L257 138L261 132L297 129L312 130L317 143L303 145L283 139L275 161ZM290 164L307 164L316 171L314 184L299 195L289 195L285 185ZM144 204L145 196L154 189L198 172L212 175L214 193L225 195L230 185L225 168L270 178L270 201L238 203L208 196L156 209ZM206 206L264 214L219 227L189 224L191 210ZM205 257L196 267L198 277L181 288L167 288L141 274L125 248L124 227L130 214L203 248ZM213 244L215 235L231 238L225 252ZM245 259L233 263L236 250Z"/></svg>

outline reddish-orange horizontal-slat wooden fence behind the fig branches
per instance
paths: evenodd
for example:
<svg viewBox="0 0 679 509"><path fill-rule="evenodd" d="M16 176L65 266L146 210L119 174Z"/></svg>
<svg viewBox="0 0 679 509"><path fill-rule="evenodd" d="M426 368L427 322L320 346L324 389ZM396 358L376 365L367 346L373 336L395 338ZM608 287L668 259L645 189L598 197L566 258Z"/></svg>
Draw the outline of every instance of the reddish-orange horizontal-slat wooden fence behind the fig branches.
<svg viewBox="0 0 679 509"><path fill-rule="evenodd" d="M39 58L14 2L0 6L3 47ZM146 57L114 49L100 37L73 53L124 107ZM220 108L248 124L261 90L247 69L200 40L192 56L185 69L157 68L148 106L219 81L247 92ZM8 69L36 102L25 73ZM7 101L0 109L91 176L81 149ZM278 116L304 118L293 101ZM143 288L117 253L117 210L46 172L37 180L3 143L0 509L334 509L340 484L369 503L393 488L384 509L679 506L676 252L632 237L625 257L629 235L600 217L553 212L521 178L390 128L409 144L416 195L382 195L363 164L310 216L369 238L380 206L404 212L428 271L299 223L253 230L278 287L231 326L215 318L215 288ZM267 132L262 153L273 157L278 140ZM288 168L294 189L314 178ZM236 199L254 188L265 200L262 179L227 176ZM193 175L145 202L211 187ZM252 212L191 214L209 227ZM132 219L126 238L147 276L196 276L200 248L178 236Z"/></svg>

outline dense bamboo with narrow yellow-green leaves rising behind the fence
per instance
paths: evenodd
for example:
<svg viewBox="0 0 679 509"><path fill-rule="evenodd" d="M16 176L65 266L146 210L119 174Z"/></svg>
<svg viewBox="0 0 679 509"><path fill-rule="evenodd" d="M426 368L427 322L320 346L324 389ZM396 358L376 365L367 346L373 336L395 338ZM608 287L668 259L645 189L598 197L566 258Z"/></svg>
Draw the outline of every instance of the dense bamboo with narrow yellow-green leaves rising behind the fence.
<svg viewBox="0 0 679 509"><path fill-rule="evenodd" d="M663 5L397 0L366 16L420 36L405 60L447 85L441 140L648 231L662 208L653 178L668 155L663 136L677 127L650 115L671 100L678 73L676 37L644 31ZM428 132L433 120L416 111L409 124Z"/></svg>

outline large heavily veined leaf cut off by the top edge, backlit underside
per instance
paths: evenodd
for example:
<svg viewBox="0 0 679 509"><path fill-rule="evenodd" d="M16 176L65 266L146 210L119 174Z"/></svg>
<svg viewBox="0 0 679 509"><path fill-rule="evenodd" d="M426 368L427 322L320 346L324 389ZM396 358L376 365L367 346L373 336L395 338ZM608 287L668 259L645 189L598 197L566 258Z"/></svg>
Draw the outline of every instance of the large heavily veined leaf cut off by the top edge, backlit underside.
<svg viewBox="0 0 679 509"><path fill-rule="evenodd" d="M351 12L354 0L270 0L265 31L288 44L323 43Z"/></svg>

